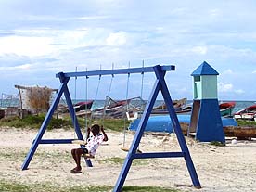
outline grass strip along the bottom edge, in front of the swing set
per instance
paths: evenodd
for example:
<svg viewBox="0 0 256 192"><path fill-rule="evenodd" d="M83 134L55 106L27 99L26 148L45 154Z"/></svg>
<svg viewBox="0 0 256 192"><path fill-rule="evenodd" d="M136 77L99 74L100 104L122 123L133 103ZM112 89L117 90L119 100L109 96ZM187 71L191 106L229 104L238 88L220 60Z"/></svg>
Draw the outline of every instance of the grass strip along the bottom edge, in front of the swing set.
<svg viewBox="0 0 256 192"><path fill-rule="evenodd" d="M19 184L17 182L6 182L0 180L0 191L5 192L108 192L112 191L113 186L70 186L60 187L51 186L50 184ZM126 192L179 192L179 190L158 186L123 186L122 191Z"/></svg>

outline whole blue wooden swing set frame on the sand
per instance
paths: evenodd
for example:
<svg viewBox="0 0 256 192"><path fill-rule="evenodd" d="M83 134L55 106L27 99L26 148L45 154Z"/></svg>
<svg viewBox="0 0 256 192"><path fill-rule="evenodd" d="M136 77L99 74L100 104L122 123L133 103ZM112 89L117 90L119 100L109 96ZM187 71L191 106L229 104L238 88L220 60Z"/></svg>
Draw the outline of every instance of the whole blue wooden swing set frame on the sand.
<svg viewBox="0 0 256 192"><path fill-rule="evenodd" d="M76 72L59 72L56 77L59 78L60 81L60 87L58 89L57 96L54 99L54 102L52 103L50 109L48 110L45 120L41 125L41 128L36 135L32 147L29 151L29 153L26 156L26 159L24 160L21 169L26 170L28 169L28 166L32 160L32 157L36 151L36 148L39 144L70 144L74 139L42 139L43 135L45 134L46 127L48 123L50 122L52 115L58 107L59 99L64 94L68 108L70 111L70 118L72 119L72 122L74 124L75 133L77 134L77 138L79 140L83 140L83 134L81 133L80 126L78 124L78 121L76 119L75 111L72 106L72 101L70 97L70 91L68 88L68 83L70 81L71 77L90 77L90 76L102 76L102 75L116 75L116 74L131 74L131 73L145 73L145 72L154 72L156 75L156 81L153 85L151 94L148 98L146 108L143 112L143 115L141 117L141 121L138 124L138 127L136 129L136 132L134 134L134 140L132 142L132 145L127 153L126 159L124 160L124 163L122 165L122 171L119 175L119 178L117 180L116 186L114 186L113 191L119 192L122 191L122 186L125 182L126 176L130 170L130 167L132 165L132 162L134 159L151 159L151 158L184 158L186 161L186 167L190 174L193 186L200 188L200 183L198 180L198 174L196 172L196 169L194 167L193 161L191 159L188 147L186 146L186 140L182 133L180 123L178 121L177 115L175 113L175 109L173 108L173 101L170 96L167 84L164 80L164 76L166 71L175 70L175 66L168 65L168 66L160 66L156 65L153 67L143 67L143 68L129 68L129 69L120 69L120 70L92 70L92 71L76 71ZM154 103L157 99L157 96L161 92L163 99L166 103L166 106L169 111L170 118L173 123L173 131L177 136L178 143L181 147L180 152L148 152L148 153L136 153L141 137L145 131L148 118L150 116L150 113L153 109ZM86 159L87 166L92 166L92 163L89 159Z"/></svg>

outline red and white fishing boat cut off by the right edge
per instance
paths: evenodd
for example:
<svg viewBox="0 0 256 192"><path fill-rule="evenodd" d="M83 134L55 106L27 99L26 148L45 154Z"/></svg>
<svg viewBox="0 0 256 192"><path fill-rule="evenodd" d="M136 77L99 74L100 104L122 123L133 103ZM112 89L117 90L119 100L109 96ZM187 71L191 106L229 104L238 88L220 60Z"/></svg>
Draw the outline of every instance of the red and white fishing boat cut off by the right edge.
<svg viewBox="0 0 256 192"><path fill-rule="evenodd" d="M256 105L238 110L234 114L234 118L237 120L254 120L256 122Z"/></svg>

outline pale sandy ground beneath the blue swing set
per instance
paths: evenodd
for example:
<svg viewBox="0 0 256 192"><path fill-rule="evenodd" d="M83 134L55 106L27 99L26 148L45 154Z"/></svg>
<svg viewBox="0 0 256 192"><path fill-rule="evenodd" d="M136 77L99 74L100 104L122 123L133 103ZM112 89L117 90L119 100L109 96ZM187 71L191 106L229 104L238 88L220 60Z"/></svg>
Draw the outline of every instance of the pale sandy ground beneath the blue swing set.
<svg viewBox="0 0 256 192"><path fill-rule="evenodd" d="M83 173L71 174L74 162L70 150L78 145L40 145L30 163L29 170L20 167L28 153L35 130L0 128L0 180L24 184L49 184L52 186L115 186L122 163L114 159L125 158L121 150L123 134L109 132L109 141L102 145L94 167L83 166ZM128 146L134 133L126 133ZM71 131L47 131L44 138L74 138ZM226 141L225 147L212 146L186 138L192 160L202 188L189 186L191 179L183 158L138 160L126 178L125 186L168 186L182 191L256 191L256 143L254 141ZM152 151L180 151L174 135L144 135L140 149Z"/></svg>

